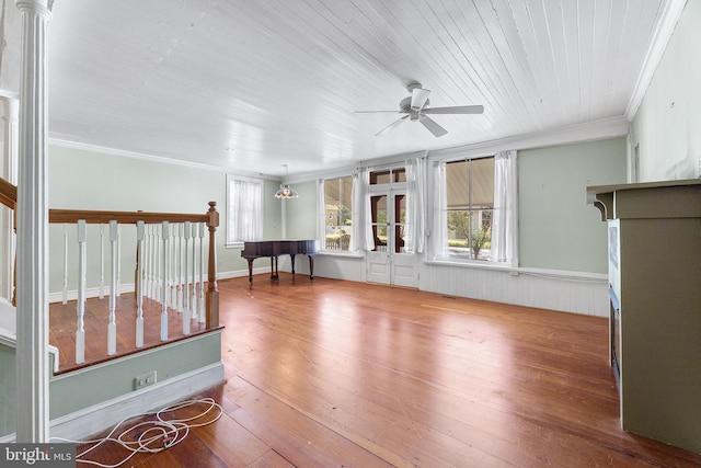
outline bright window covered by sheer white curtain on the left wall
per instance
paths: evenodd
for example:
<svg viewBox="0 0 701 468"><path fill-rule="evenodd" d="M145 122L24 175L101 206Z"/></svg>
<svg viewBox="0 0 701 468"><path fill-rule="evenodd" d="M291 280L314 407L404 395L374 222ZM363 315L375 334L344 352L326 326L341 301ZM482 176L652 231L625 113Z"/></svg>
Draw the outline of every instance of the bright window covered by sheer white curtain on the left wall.
<svg viewBox="0 0 701 468"><path fill-rule="evenodd" d="M227 176L227 246L263 236L263 182Z"/></svg>

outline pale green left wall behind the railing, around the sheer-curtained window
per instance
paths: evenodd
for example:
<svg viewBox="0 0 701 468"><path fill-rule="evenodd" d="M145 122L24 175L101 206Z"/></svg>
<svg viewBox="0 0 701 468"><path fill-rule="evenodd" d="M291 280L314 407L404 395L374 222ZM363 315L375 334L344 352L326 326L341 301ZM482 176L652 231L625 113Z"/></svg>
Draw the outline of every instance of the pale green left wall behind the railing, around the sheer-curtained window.
<svg viewBox="0 0 701 468"><path fill-rule="evenodd" d="M67 209L101 209L127 212L206 213L208 202L217 202L220 226L217 231L217 272L246 271L240 249L227 249L226 198L227 174L215 169L202 169L175 163L149 161L105 152L50 146L49 206ZM280 202L273 194L278 182L264 181L264 238L279 238ZM269 196L265 196L269 194ZM62 288L64 278L62 225L49 228L49 292ZM78 244L76 227L67 226L69 251L69 290L77 289ZM136 229L123 226L124 250L120 252L120 283L134 282ZM106 251L108 255L108 250ZM88 287L99 285L100 228L88 227ZM108 284L108 264L105 267Z"/></svg>

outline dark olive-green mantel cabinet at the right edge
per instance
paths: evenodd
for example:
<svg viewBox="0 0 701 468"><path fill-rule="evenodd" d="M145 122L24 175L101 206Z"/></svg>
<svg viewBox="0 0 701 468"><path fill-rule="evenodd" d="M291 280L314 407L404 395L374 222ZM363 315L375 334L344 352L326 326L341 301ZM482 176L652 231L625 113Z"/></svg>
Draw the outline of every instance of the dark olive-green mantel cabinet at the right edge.
<svg viewBox="0 0 701 468"><path fill-rule="evenodd" d="M609 227L621 424L701 453L701 180L587 194Z"/></svg>

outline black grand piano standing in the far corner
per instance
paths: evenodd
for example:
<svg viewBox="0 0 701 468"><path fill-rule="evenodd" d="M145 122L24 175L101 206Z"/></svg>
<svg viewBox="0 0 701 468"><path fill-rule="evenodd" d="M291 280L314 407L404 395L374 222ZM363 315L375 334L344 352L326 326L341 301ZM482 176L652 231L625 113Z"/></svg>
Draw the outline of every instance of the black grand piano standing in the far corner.
<svg viewBox="0 0 701 468"><path fill-rule="evenodd" d="M309 256L309 277L314 278L314 255L319 253L318 240L261 240L243 242L241 256L249 261L249 283L253 282L253 261L261 256L271 258L271 278L277 279L277 258L290 255L292 259L292 274L295 274L295 255Z"/></svg>

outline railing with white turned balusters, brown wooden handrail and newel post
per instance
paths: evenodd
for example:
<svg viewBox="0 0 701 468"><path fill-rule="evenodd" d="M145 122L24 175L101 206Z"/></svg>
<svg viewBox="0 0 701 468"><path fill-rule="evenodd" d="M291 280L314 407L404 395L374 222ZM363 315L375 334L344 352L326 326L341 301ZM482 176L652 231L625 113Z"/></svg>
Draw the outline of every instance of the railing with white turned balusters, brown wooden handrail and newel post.
<svg viewBox="0 0 701 468"><path fill-rule="evenodd" d="M16 187L1 178L0 203L11 209L16 205ZM219 213L216 205L216 202L209 202L209 209L204 214L49 209L49 224L64 225L64 304L67 303L68 296L68 231L71 226L74 226L78 244L76 364L85 361L88 225L100 226L100 297L104 295L105 243L108 247L107 355L114 355L117 342L116 300L119 296L123 226L133 226L136 229L135 347L143 346L145 297L157 300L161 305L161 341L169 340L168 317L172 311L177 311L182 317L183 335L191 333L192 322L204 323L207 330L219 327L215 242ZM205 249L207 260L205 260ZM16 259L14 261L16 264ZM91 274L95 272L91 271Z"/></svg>

